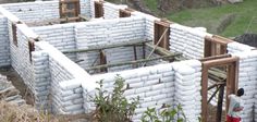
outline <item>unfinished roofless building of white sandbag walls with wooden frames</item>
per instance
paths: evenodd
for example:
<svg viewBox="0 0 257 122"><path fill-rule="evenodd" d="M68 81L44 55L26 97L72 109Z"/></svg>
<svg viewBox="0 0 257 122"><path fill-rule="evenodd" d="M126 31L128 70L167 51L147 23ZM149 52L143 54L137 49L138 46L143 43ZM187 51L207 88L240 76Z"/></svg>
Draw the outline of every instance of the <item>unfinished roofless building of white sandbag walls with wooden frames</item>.
<svg viewBox="0 0 257 122"><path fill-rule="evenodd" d="M171 20L172 21L172 20ZM257 51L225 37L99 0L0 5L0 66L12 66L32 90L35 107L57 114L90 112L89 96L103 80L139 96L134 121L147 108L182 105L187 120L217 121L238 87L244 122L257 112Z"/></svg>

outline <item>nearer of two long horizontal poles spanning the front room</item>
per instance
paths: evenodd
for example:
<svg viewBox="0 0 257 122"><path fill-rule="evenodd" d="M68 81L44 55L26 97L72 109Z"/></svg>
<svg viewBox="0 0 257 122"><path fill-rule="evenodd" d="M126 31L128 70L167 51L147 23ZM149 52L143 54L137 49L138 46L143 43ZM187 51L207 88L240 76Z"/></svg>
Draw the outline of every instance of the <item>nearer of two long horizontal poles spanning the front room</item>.
<svg viewBox="0 0 257 122"><path fill-rule="evenodd" d="M136 60L136 61L127 61L127 62L118 62L118 63L97 65L97 66L93 66L93 68L87 68L86 71L103 69L103 68L121 66L121 65L126 65L126 64L136 64L136 63L142 63L142 62L159 60L159 59L169 59L169 58L171 59L171 58L174 58L174 57L180 56L180 54L181 53L174 53L174 54L171 54L171 56L163 56L163 57L151 58L151 59L142 59L142 60Z"/></svg>

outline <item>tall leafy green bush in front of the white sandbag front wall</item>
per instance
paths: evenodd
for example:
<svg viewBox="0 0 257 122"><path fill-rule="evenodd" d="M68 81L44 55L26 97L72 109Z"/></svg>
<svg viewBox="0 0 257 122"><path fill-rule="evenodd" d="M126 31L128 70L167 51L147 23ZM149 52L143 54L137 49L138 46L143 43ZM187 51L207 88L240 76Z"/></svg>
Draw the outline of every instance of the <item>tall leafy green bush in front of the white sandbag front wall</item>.
<svg viewBox="0 0 257 122"><path fill-rule="evenodd" d="M115 77L114 89L108 94L102 87L102 82L98 84L97 94L94 98L96 103L95 118L99 122L131 122L134 111L139 102L139 97L132 99L131 102L123 96L125 81L121 76Z"/></svg>

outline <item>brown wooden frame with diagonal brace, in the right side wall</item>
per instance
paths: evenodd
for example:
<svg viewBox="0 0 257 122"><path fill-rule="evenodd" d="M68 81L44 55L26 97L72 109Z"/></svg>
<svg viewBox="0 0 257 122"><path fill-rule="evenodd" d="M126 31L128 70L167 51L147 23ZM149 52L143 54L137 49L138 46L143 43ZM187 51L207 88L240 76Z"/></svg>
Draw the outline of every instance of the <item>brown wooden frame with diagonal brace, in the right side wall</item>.
<svg viewBox="0 0 257 122"><path fill-rule="evenodd" d="M171 22L155 21L154 44L157 45L160 41L157 46L167 50L170 50L170 24Z"/></svg>

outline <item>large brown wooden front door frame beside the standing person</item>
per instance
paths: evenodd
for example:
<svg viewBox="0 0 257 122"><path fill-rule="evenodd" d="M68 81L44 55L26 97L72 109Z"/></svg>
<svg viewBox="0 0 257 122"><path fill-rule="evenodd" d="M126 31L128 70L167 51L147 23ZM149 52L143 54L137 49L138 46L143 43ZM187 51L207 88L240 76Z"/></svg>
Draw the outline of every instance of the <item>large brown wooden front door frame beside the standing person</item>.
<svg viewBox="0 0 257 122"><path fill-rule="evenodd" d="M238 84L238 58L237 57L225 57L213 60L204 60L203 62L203 74L201 74L201 118L203 122L207 122L208 119L208 70L213 66L228 66L227 71L227 103L225 110L229 108L228 96L230 94L235 94Z"/></svg>

